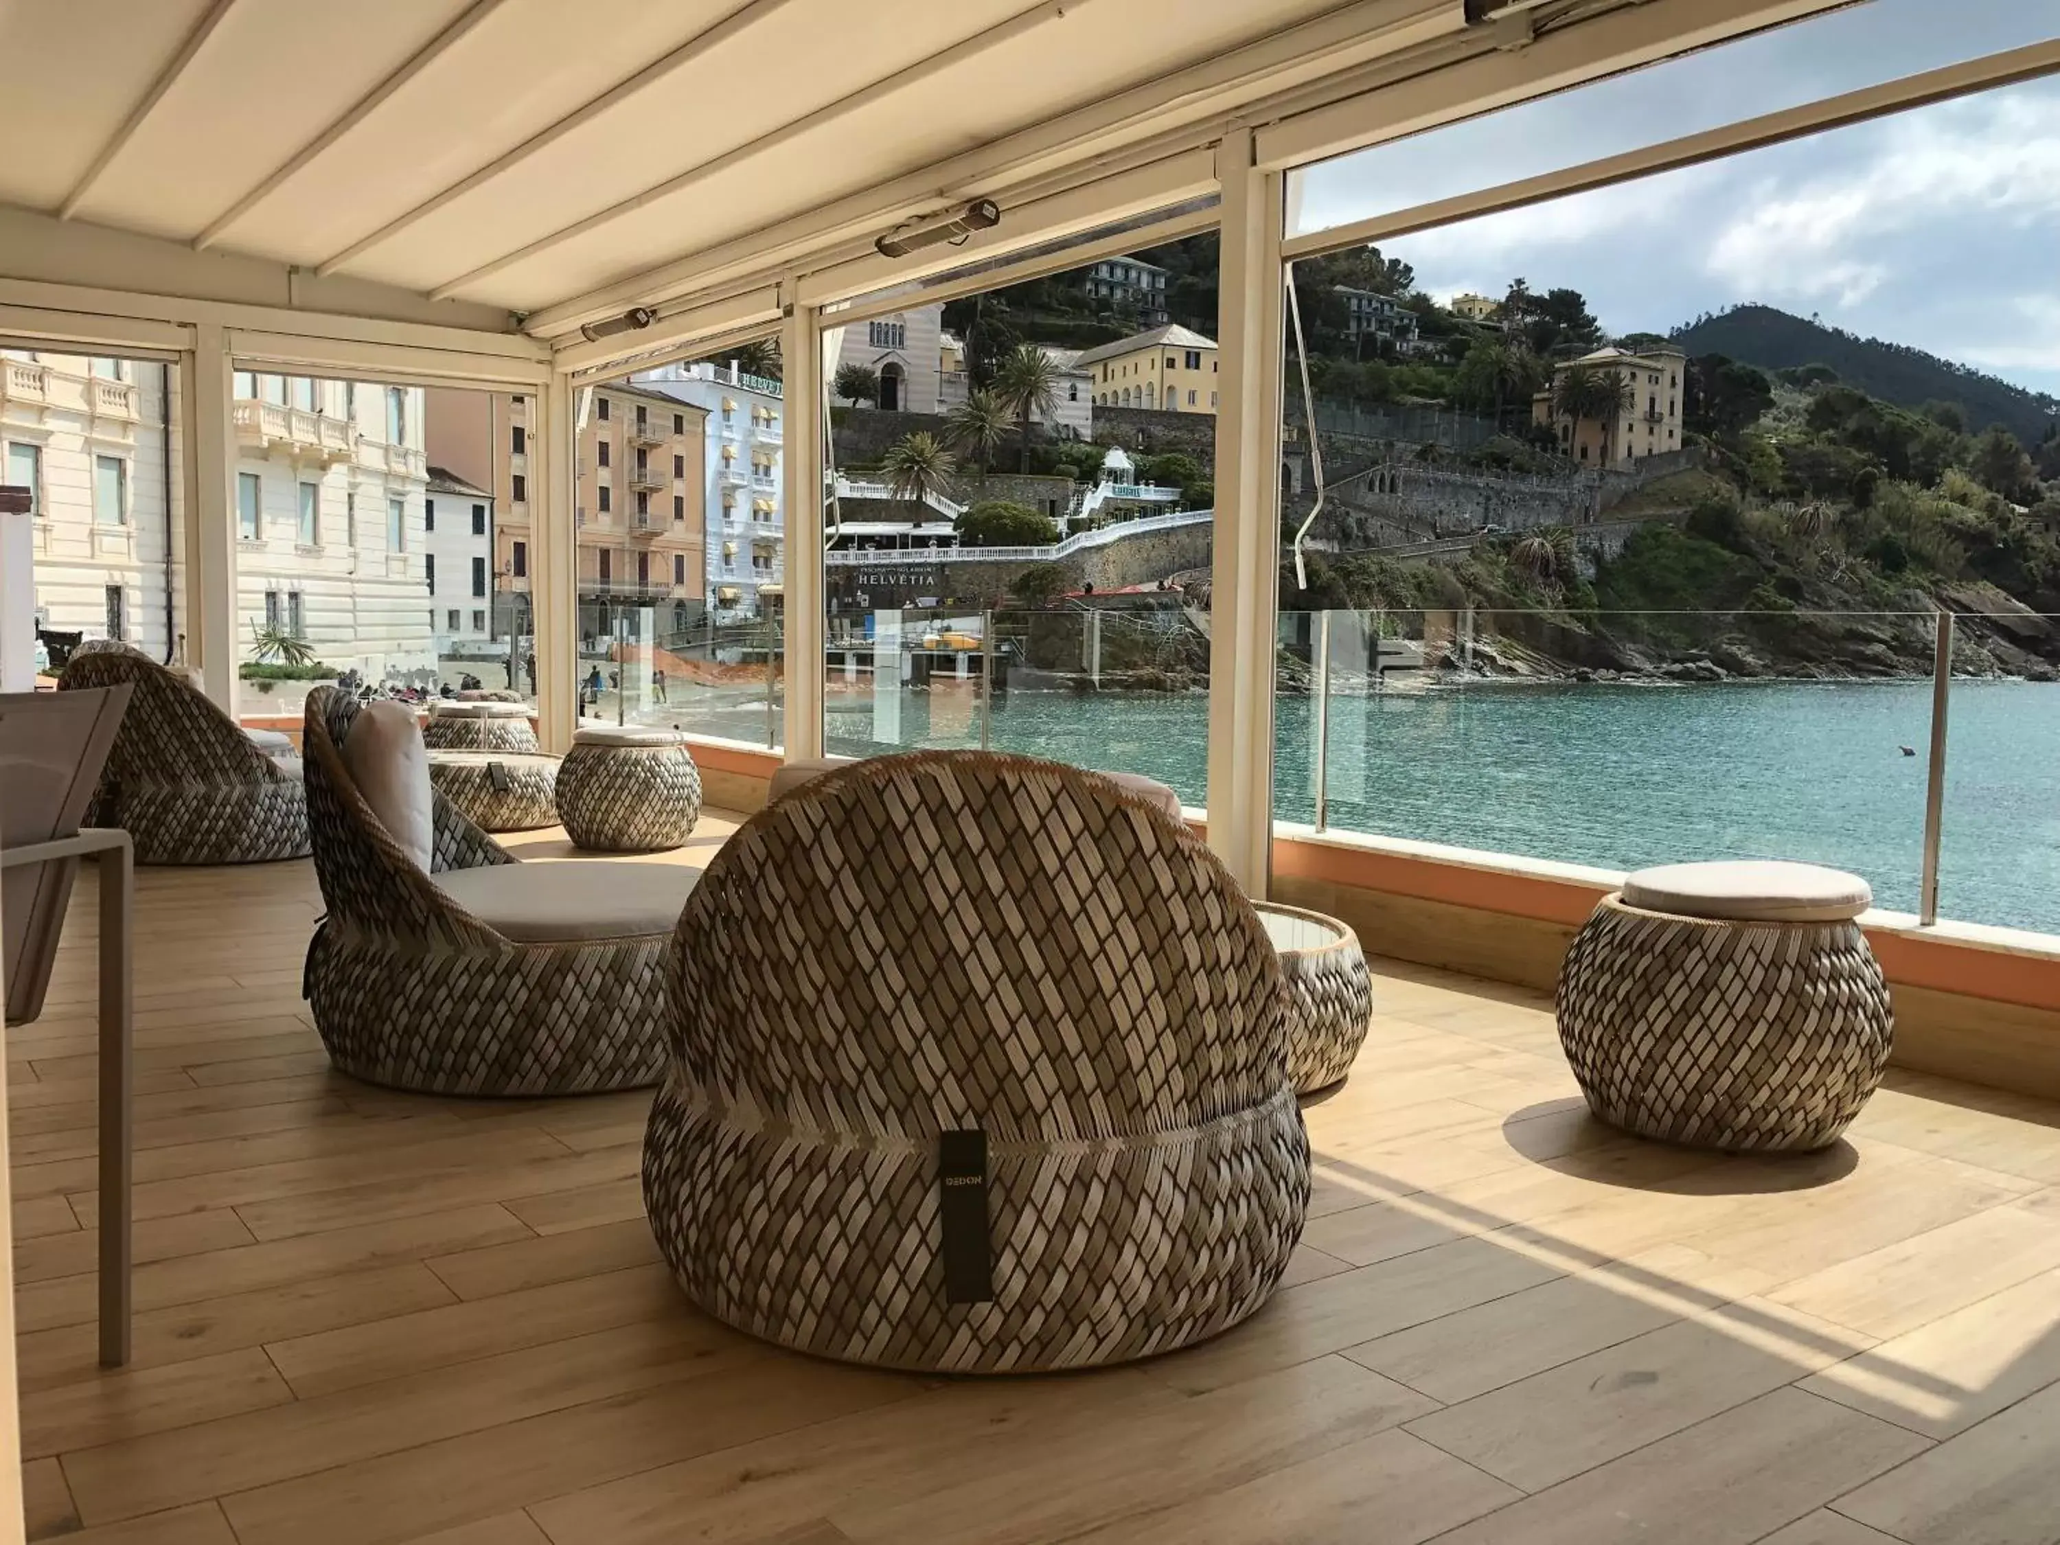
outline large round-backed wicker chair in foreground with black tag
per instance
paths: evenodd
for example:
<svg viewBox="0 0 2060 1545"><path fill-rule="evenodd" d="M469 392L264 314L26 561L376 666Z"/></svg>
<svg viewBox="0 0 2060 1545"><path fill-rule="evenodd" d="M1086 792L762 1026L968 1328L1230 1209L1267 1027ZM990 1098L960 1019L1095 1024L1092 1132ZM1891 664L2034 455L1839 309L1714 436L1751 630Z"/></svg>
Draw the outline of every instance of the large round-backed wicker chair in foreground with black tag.
<svg viewBox="0 0 2060 1545"><path fill-rule="evenodd" d="M1032 1372L1191 1345L1279 1281L1310 1178L1277 954L1108 779L981 752L818 777L723 845L674 964L645 1203L717 1318ZM968 1133L970 1236L939 1170Z"/></svg>

